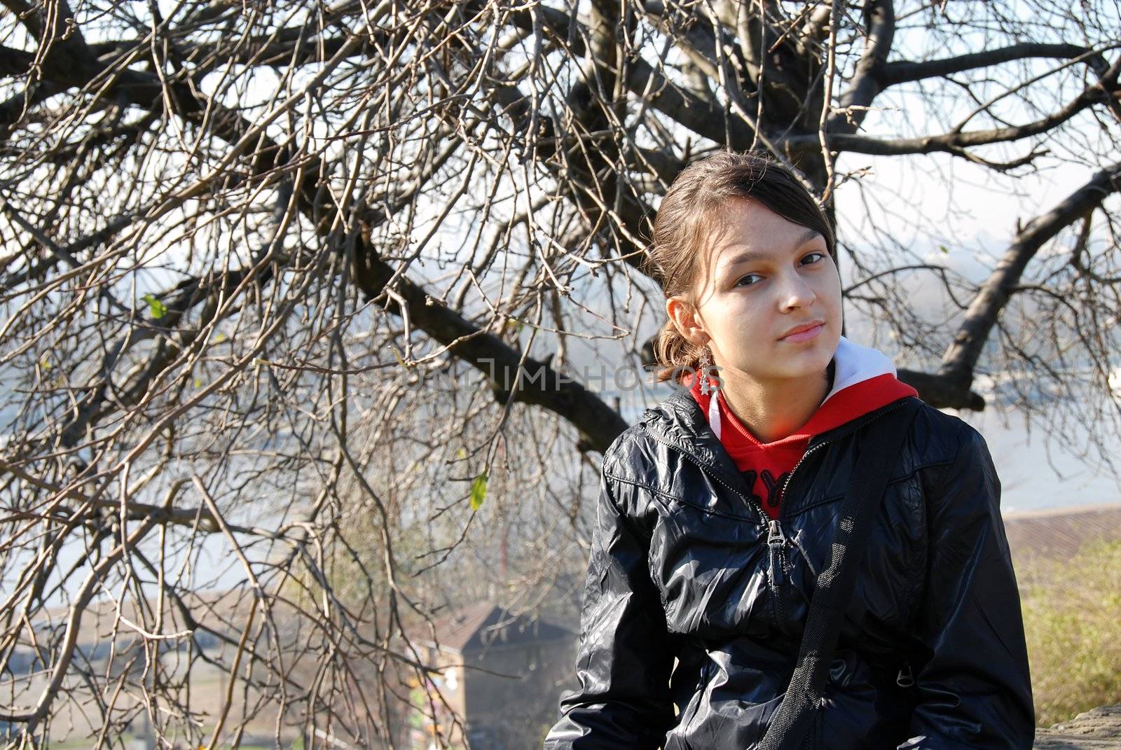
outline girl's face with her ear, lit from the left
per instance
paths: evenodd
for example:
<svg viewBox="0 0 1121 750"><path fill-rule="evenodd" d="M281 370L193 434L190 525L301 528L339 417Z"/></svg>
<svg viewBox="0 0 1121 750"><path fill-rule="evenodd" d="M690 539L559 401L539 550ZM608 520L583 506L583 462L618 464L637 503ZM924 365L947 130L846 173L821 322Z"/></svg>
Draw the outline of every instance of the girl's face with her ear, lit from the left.
<svg viewBox="0 0 1121 750"><path fill-rule="evenodd" d="M733 198L702 252L695 314L675 298L666 312L707 341L721 379L768 385L825 371L841 339L841 279L822 234Z"/></svg>

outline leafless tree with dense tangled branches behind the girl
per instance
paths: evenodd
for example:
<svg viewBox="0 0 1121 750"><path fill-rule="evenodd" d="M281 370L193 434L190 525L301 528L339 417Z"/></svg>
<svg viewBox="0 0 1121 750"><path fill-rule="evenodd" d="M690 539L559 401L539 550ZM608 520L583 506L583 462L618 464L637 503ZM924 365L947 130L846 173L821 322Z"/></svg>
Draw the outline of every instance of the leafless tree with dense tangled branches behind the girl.
<svg viewBox="0 0 1121 750"><path fill-rule="evenodd" d="M583 541L627 419L572 370L650 361L649 221L714 149L798 170L927 401L1118 426L1115 2L0 2L0 722L33 744L402 747L402 629L537 608ZM852 155L1085 177L978 280L859 237Z"/></svg>

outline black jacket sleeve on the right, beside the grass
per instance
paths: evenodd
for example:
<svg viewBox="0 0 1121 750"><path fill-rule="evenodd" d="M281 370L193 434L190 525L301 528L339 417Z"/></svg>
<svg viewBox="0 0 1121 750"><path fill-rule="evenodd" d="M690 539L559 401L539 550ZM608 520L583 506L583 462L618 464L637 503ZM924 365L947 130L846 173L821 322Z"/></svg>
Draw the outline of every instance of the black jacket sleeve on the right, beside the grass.
<svg viewBox="0 0 1121 750"><path fill-rule="evenodd" d="M1000 480L984 438L961 427L957 455L927 500L916 633L926 661L915 668L911 739L898 750L1031 750L1031 678Z"/></svg>

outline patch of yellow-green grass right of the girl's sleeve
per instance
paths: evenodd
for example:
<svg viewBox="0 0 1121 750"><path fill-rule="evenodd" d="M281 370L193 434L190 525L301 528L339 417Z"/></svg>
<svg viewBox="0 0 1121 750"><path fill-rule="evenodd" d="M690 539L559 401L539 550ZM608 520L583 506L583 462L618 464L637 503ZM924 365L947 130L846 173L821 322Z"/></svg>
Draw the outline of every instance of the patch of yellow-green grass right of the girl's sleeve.
<svg viewBox="0 0 1121 750"><path fill-rule="evenodd" d="M1121 703L1121 541L1017 570L1036 723Z"/></svg>

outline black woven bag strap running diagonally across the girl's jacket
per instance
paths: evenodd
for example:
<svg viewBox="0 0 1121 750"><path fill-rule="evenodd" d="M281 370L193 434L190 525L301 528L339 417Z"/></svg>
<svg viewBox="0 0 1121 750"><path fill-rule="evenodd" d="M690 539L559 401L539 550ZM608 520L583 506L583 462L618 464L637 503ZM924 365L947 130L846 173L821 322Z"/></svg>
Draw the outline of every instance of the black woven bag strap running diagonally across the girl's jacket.
<svg viewBox="0 0 1121 750"><path fill-rule="evenodd" d="M858 443L856 464L830 545L828 566L817 577L809 603L798 663L759 750L802 748L833 660L841 620L855 585L876 510L920 406L917 398L902 399L899 407L873 422Z"/></svg>

